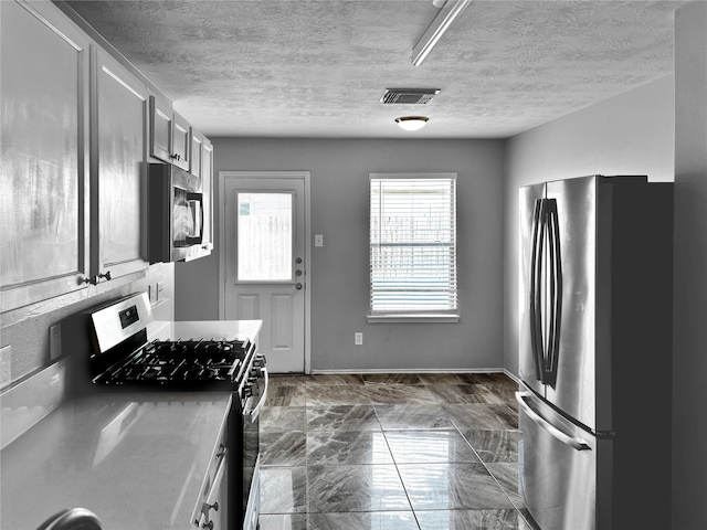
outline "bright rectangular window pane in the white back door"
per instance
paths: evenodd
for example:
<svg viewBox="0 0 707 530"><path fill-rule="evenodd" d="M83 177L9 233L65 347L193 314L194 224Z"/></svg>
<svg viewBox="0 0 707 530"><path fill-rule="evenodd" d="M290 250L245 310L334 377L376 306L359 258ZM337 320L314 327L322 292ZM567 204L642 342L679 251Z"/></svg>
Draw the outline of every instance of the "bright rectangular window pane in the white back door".
<svg viewBox="0 0 707 530"><path fill-rule="evenodd" d="M293 194L238 193L240 282L292 282Z"/></svg>

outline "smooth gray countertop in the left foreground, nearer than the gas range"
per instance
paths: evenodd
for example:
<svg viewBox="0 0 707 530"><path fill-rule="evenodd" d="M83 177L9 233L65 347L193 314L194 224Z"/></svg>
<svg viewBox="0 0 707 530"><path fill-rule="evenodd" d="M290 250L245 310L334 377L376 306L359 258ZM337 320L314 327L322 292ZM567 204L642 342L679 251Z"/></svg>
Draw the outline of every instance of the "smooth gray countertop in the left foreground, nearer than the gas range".
<svg viewBox="0 0 707 530"><path fill-rule="evenodd" d="M64 508L106 530L192 529L229 392L109 392L71 400L2 449L1 526Z"/></svg>

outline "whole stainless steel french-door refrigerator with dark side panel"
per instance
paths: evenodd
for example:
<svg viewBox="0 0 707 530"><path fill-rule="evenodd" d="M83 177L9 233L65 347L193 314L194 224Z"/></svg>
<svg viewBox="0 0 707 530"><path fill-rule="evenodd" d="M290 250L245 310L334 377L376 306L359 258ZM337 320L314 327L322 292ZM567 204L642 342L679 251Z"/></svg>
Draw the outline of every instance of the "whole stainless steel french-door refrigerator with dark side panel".
<svg viewBox="0 0 707 530"><path fill-rule="evenodd" d="M673 184L519 195L526 507L542 530L669 528Z"/></svg>

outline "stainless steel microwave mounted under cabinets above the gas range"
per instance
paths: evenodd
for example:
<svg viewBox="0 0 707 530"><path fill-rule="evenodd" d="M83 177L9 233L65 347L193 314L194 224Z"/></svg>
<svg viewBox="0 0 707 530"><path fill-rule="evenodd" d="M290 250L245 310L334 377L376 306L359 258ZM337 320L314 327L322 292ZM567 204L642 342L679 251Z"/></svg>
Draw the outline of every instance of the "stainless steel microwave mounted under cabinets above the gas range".
<svg viewBox="0 0 707 530"><path fill-rule="evenodd" d="M181 262L209 255L204 239L204 201L199 177L170 163L150 163L148 184L148 250L151 263ZM204 208L205 206L205 208Z"/></svg>

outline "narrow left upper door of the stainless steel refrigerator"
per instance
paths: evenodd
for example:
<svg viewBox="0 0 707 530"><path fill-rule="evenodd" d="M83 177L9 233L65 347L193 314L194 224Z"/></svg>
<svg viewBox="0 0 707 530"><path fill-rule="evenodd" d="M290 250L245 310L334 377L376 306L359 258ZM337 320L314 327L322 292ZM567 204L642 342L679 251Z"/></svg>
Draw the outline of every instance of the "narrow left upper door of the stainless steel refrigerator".
<svg viewBox="0 0 707 530"><path fill-rule="evenodd" d="M534 274L537 271L536 246L539 226L540 204L545 199L545 184L520 188L519 190L519 329L518 329L518 372L520 379L532 390L545 395L545 385L540 381L538 357L534 333L535 311L532 297Z"/></svg>

